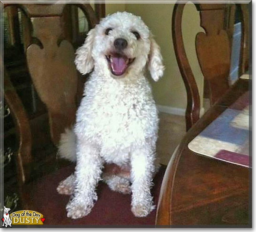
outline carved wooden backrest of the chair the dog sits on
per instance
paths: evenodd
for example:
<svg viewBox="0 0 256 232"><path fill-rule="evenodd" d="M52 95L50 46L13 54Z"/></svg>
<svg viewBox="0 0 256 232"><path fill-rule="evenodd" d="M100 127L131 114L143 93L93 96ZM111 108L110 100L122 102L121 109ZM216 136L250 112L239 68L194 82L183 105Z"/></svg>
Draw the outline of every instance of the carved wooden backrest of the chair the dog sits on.
<svg viewBox="0 0 256 232"><path fill-rule="evenodd" d="M67 28L64 28L66 25L63 23L63 11L69 4L15 5L28 18L23 27L26 29L23 31L25 63L33 89L45 105L51 140L57 145L60 134L66 127L72 126L75 121L76 108L82 97L83 89L83 80L74 65L74 49L76 47L65 37ZM98 18L90 4L74 5L83 11L89 29L93 28L98 22ZM4 5L4 7L8 6L13 6L13 4ZM17 163L19 183L22 184L30 179L30 172L26 164L32 161L31 152L35 141L33 137L37 136L37 132L34 136L31 133L36 129L32 128L33 122L30 115L23 106L20 95L17 94L17 88L11 81L8 73L10 70L9 68L4 71L4 98L16 122L16 130L19 135Z"/></svg>

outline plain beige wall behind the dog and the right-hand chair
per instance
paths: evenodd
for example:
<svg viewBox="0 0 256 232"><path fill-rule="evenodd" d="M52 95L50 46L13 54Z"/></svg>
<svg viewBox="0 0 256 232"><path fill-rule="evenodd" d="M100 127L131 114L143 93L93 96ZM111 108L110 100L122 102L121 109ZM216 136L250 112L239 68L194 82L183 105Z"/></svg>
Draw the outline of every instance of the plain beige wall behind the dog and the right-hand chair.
<svg viewBox="0 0 256 232"><path fill-rule="evenodd" d="M154 34L156 42L160 45L165 64L163 78L158 82L150 79L156 103L171 108L185 109L187 102L186 90L176 62L171 35L173 7L174 4L106 4L106 14L128 11L141 16ZM193 4L185 6L182 20L187 57L202 96L203 77L195 52L195 36L203 29L200 27L199 13Z"/></svg>

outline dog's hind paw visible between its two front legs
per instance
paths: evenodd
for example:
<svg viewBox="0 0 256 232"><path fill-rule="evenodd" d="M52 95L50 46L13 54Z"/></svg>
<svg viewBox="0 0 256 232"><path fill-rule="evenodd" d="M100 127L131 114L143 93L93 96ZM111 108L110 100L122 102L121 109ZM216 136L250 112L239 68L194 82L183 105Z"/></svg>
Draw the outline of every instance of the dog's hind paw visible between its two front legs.
<svg viewBox="0 0 256 232"><path fill-rule="evenodd" d="M130 181L124 177L117 175L103 175L103 181L109 186L109 188L122 194L131 193Z"/></svg>

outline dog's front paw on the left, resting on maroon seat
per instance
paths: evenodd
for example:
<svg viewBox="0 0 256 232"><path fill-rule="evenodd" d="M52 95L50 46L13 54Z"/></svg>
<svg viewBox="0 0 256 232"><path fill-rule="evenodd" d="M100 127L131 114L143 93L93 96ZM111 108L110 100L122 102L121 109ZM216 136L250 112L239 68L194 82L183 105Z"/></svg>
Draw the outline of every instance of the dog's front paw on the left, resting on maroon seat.
<svg viewBox="0 0 256 232"><path fill-rule="evenodd" d="M88 215L93 208L93 201L91 203L85 203L82 201L76 201L75 199L69 201L66 206L67 217L72 219L78 219Z"/></svg>

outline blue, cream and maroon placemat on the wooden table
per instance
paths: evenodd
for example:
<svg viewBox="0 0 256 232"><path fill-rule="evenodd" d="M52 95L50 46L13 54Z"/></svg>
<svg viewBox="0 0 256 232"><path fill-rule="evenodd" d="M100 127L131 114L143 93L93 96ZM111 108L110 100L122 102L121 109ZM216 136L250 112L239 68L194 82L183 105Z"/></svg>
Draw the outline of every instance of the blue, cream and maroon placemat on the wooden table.
<svg viewBox="0 0 256 232"><path fill-rule="evenodd" d="M251 167L249 117L247 107L243 110L226 109L189 142L188 148L200 155Z"/></svg>

